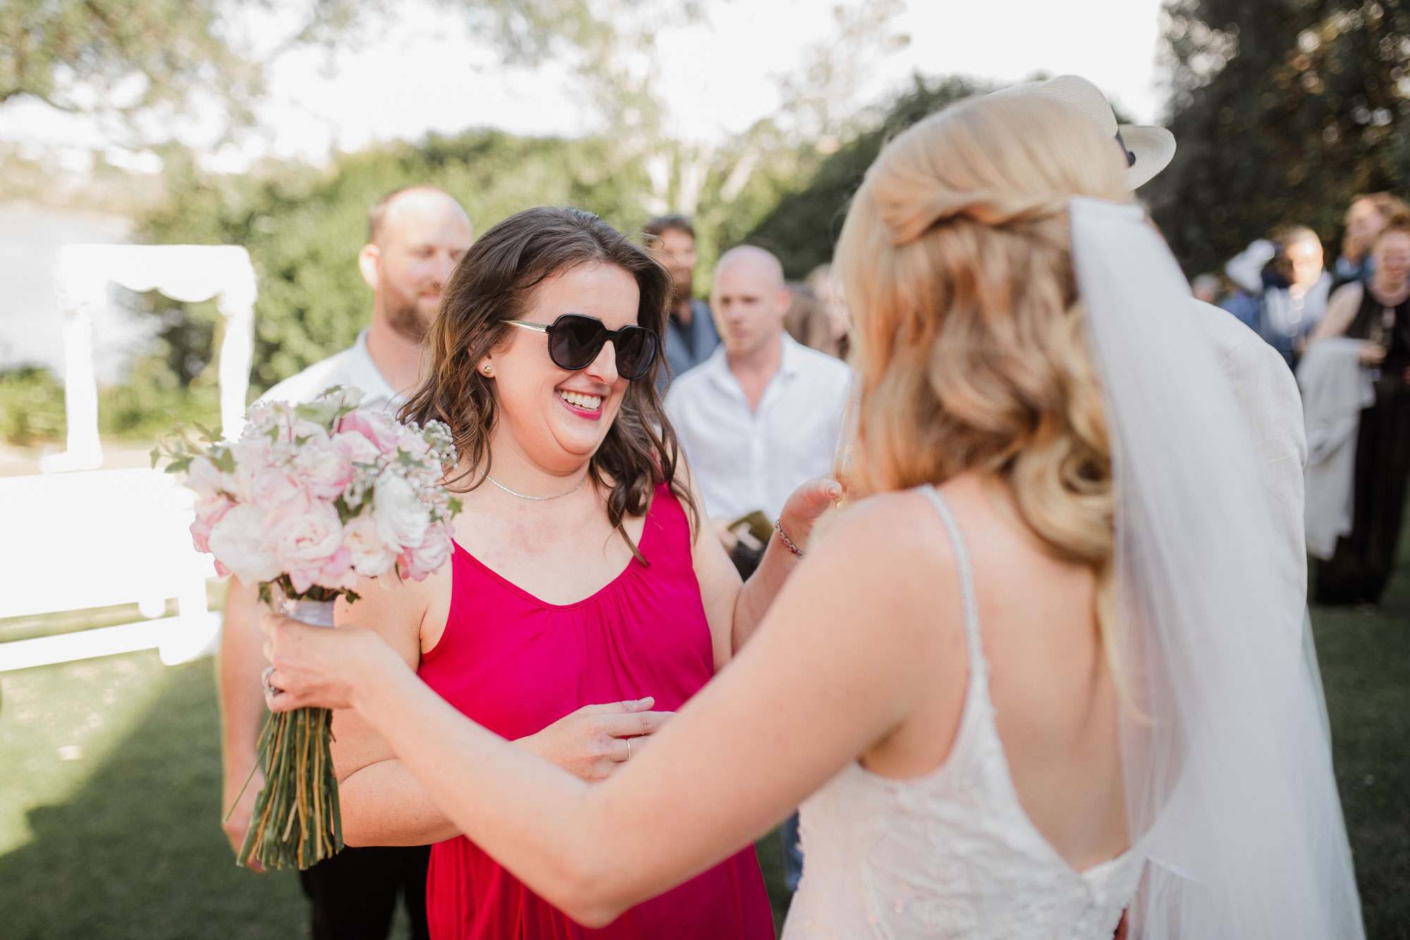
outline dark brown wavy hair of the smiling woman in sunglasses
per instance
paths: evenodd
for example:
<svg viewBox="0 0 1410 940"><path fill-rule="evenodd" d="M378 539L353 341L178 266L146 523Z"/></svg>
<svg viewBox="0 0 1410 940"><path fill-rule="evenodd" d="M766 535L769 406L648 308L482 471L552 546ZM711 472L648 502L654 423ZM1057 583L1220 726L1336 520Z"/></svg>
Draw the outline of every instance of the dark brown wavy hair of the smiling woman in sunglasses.
<svg viewBox="0 0 1410 940"><path fill-rule="evenodd" d="M402 408L403 421L443 421L450 425L464 470L453 488L474 490L485 477L465 481L471 471L491 470L489 439L499 421L495 384L475 364L509 339L505 320L523 319L536 288L556 274L585 264L609 264L630 274L640 289L637 323L666 336L671 275L642 246L582 209L540 206L513 215L479 237L455 265L441 295L440 312L426 336L430 377ZM608 521L640 559L622 522L643 515L661 483L687 508L692 532L699 510L677 480L680 447L656 391L664 356L642 378L627 384L622 408L588 463L588 476L605 493Z"/></svg>

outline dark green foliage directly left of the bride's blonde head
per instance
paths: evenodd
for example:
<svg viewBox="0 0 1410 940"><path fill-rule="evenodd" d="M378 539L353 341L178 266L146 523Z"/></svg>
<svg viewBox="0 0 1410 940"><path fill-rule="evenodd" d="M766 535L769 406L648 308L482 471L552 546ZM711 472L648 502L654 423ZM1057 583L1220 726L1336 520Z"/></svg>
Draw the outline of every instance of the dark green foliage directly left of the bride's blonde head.
<svg viewBox="0 0 1410 940"><path fill-rule="evenodd" d="M790 278L807 277L812 268L832 260L847 203L885 141L926 114L986 90L991 90L990 86L964 78L926 82L915 76L914 85L885 110L871 130L823 159L807 186L778 199L777 206L757 226L732 243L768 248L783 261Z"/></svg>

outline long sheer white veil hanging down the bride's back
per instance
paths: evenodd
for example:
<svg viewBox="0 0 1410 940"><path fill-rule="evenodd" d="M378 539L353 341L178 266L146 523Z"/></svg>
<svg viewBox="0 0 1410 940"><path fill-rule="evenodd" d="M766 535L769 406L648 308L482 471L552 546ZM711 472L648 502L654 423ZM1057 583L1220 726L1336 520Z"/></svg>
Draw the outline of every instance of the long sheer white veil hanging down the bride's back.
<svg viewBox="0 0 1410 940"><path fill-rule="evenodd" d="M1362 937L1294 546L1189 287L1132 205L1072 200L1117 483L1142 940Z"/></svg>

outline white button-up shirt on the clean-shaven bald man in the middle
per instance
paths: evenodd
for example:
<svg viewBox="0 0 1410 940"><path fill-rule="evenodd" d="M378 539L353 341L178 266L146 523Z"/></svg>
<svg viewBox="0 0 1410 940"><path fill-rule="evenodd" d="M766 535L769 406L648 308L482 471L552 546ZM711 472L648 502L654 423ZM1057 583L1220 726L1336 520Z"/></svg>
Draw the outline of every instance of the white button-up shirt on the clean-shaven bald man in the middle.
<svg viewBox="0 0 1410 940"><path fill-rule="evenodd" d="M675 378L666 414L713 519L754 510L778 518L801 483L832 473L852 370L784 335L778 371L757 411L729 371L725 347Z"/></svg>

